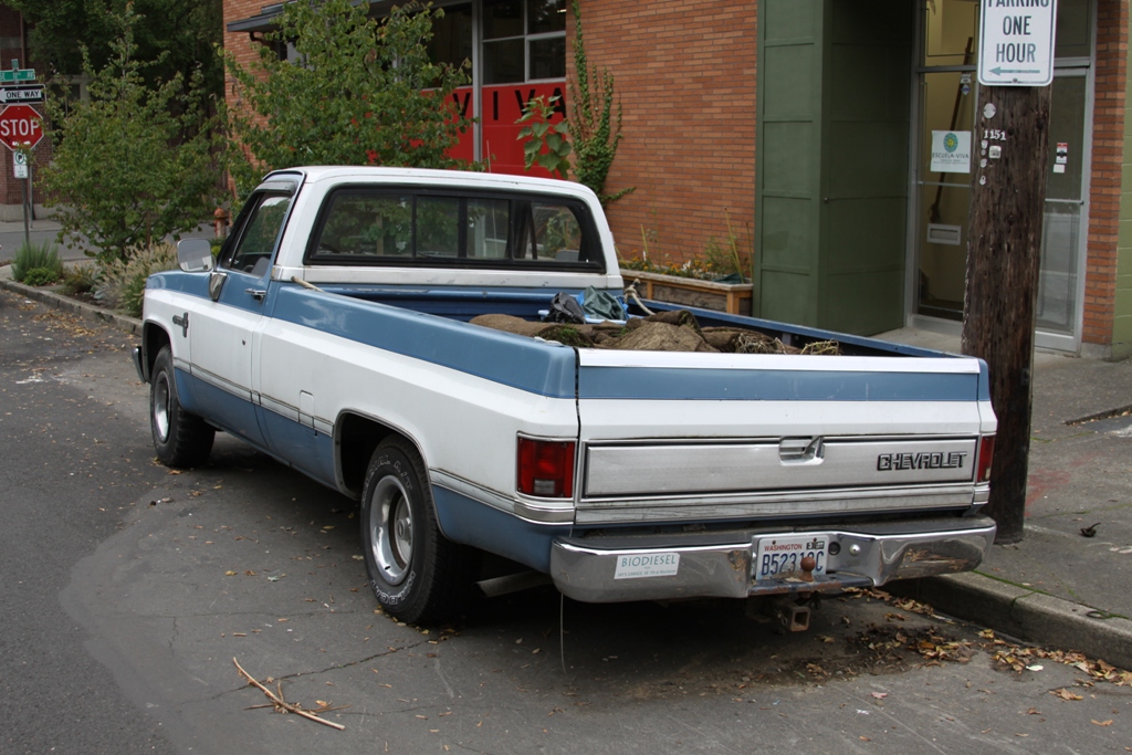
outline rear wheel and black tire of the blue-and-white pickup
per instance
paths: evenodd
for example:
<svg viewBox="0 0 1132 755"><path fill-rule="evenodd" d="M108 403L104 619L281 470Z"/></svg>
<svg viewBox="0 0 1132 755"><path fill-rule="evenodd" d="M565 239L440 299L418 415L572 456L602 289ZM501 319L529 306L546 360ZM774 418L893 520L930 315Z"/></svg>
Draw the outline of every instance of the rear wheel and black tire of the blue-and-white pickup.
<svg viewBox="0 0 1132 755"><path fill-rule="evenodd" d="M424 463L408 441L383 441L361 497L369 584L385 610L411 624L455 618L473 597L479 551L446 539Z"/></svg>

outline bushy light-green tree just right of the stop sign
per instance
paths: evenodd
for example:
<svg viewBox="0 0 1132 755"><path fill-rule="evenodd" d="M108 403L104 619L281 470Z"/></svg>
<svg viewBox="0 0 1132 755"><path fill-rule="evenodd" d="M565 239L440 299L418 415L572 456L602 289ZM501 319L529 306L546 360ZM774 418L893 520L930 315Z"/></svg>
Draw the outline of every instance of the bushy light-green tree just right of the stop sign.
<svg viewBox="0 0 1132 755"><path fill-rule="evenodd" d="M60 241L86 240L102 261L196 228L220 196L218 144L214 119L204 114L200 71L188 83L177 74L148 88L148 65L134 38L139 16L127 6L114 19L120 37L109 62L96 70L84 57L89 100L48 103L51 134L66 138L43 171Z"/></svg>

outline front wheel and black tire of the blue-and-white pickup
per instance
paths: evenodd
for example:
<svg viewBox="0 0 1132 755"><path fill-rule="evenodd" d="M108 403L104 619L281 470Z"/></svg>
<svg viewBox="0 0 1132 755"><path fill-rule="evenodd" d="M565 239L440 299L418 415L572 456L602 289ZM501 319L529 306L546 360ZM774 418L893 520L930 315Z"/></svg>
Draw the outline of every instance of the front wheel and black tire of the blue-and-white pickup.
<svg viewBox="0 0 1132 755"><path fill-rule="evenodd" d="M173 377L173 355L162 346L149 375L149 430L157 458L165 466L199 466L208 461L216 430L181 409Z"/></svg>

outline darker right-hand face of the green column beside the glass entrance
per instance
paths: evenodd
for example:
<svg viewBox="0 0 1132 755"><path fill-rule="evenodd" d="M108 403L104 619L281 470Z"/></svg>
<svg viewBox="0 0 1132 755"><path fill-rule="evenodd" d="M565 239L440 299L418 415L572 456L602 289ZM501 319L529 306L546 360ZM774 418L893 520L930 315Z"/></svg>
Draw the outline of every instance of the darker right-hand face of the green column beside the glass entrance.
<svg viewBox="0 0 1132 755"><path fill-rule="evenodd" d="M820 324L903 325L914 3L830 0Z"/></svg>

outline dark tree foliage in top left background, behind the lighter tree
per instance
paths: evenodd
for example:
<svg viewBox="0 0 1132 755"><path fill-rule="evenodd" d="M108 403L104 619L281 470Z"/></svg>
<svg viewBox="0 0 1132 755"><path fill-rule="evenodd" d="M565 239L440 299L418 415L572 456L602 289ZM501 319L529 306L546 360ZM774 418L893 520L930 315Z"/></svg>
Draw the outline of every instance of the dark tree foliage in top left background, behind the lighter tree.
<svg viewBox="0 0 1132 755"><path fill-rule="evenodd" d="M137 58L160 58L143 74L147 86L199 68L205 91L223 94L224 67L214 52L222 40L223 0L6 0L5 5L24 14L32 60L49 69L37 71L41 76L82 72L84 49L95 69L104 68L117 55L113 43L121 29L115 18L130 6L137 15Z"/></svg>

